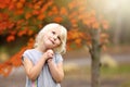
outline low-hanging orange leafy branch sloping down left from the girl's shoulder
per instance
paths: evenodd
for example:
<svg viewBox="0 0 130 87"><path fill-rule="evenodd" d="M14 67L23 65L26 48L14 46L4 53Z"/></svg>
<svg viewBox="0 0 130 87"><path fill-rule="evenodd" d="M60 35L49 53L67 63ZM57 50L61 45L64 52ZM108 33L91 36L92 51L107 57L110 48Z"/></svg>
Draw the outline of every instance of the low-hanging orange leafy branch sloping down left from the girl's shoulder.
<svg viewBox="0 0 130 87"><path fill-rule="evenodd" d="M17 53L11 57L10 60L0 64L0 74L3 76L9 76L10 72L13 67L17 67L22 65L22 54L26 49L30 49L34 46L34 39L30 38L27 46L23 47Z"/></svg>

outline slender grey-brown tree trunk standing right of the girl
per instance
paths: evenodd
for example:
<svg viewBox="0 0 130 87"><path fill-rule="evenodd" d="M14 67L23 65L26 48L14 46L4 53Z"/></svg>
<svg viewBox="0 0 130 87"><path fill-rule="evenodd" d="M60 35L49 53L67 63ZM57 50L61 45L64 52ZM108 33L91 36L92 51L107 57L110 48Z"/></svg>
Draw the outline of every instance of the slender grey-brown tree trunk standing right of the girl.
<svg viewBox="0 0 130 87"><path fill-rule="evenodd" d="M100 87L100 29L93 29L92 37L91 87Z"/></svg>

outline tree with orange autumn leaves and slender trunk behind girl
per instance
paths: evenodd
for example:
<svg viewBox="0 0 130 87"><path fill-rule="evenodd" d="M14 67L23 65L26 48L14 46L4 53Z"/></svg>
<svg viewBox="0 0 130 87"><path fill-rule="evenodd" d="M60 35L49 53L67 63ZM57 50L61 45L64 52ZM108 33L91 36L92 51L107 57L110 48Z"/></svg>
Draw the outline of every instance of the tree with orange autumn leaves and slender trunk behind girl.
<svg viewBox="0 0 130 87"><path fill-rule="evenodd" d="M90 8L88 0L66 0L62 5L53 0L5 0L0 5L0 35L6 35L8 42L14 41L15 37L30 37L27 46L0 64L0 74L8 76L13 66L22 65L21 55L25 49L32 48L39 28L56 22L68 28L68 50L74 46L88 46L92 58L92 87L100 87L100 53L107 42L105 30L108 25Z"/></svg>

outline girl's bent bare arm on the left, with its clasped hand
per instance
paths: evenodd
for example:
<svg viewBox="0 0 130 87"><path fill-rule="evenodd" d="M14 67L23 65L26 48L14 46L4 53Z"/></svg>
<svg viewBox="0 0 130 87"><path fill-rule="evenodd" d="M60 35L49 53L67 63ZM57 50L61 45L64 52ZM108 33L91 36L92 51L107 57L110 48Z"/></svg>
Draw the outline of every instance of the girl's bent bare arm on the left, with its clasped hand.
<svg viewBox="0 0 130 87"><path fill-rule="evenodd" d="M49 58L52 58L52 53L50 53L49 51L47 51L41 58L40 60L37 62L37 64L32 64L32 62L29 59L24 59L23 64L25 67L25 72L27 74L27 76L34 80L38 77L38 75L40 74L46 61Z"/></svg>

